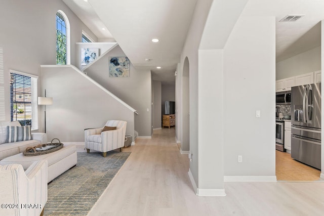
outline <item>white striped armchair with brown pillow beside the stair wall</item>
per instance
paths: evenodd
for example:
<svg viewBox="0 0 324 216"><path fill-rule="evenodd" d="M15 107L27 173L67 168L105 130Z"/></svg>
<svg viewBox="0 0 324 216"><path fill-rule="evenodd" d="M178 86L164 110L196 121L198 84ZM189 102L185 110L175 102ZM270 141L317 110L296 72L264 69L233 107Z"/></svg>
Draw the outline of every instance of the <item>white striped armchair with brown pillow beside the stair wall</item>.
<svg viewBox="0 0 324 216"><path fill-rule="evenodd" d="M100 128L85 129L85 144L87 152L95 150L102 152L103 157L106 157L107 151L121 148L125 145L126 134L126 121L121 120L109 120L106 125L108 127L116 127L111 131L104 131Z"/></svg>

